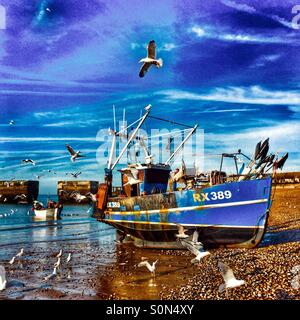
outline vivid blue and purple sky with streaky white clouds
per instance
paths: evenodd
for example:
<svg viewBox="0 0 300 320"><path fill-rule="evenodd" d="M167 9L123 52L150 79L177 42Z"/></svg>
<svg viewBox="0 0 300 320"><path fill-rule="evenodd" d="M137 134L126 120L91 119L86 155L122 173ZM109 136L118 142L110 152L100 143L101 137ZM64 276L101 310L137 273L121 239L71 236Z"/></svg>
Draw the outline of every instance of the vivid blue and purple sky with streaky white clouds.
<svg viewBox="0 0 300 320"><path fill-rule="evenodd" d="M152 113L205 132L207 154L251 155L270 137L300 170L300 29L297 1L0 0L0 177L41 178L55 191L66 172L101 180L99 130ZM138 77L155 39L163 68ZM9 126L11 119L14 126ZM70 143L87 155L71 164ZM24 158L36 167L20 166ZM101 162L102 161L102 162ZM205 161L213 169L216 160ZM56 175L43 170L56 170Z"/></svg>

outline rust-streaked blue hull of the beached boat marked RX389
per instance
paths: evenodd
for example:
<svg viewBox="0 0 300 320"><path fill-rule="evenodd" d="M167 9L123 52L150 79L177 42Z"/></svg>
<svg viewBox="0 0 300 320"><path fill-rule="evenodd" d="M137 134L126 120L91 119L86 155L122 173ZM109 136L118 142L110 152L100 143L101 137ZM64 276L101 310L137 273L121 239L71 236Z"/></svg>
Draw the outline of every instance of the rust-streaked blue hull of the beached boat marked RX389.
<svg viewBox="0 0 300 320"><path fill-rule="evenodd" d="M255 247L270 209L272 179L224 183L196 190L109 198L100 221L147 247L176 243L177 224L206 246Z"/></svg>

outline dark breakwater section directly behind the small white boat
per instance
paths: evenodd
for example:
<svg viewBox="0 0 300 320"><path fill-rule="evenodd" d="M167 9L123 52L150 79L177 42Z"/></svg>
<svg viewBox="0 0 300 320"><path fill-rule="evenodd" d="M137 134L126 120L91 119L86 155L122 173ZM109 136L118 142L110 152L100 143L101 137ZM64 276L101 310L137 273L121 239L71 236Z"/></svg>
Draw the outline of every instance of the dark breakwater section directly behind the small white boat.
<svg viewBox="0 0 300 320"><path fill-rule="evenodd" d="M88 203L98 191L98 181L58 181L57 196L62 203Z"/></svg>

